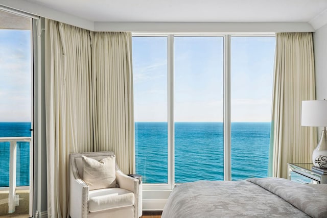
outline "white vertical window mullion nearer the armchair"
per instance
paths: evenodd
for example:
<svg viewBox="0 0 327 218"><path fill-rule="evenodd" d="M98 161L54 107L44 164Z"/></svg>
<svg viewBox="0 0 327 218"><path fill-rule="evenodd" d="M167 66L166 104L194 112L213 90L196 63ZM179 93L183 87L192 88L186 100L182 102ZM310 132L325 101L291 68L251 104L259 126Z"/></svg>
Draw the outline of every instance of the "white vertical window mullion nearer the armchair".
<svg viewBox="0 0 327 218"><path fill-rule="evenodd" d="M174 35L168 35L168 184L175 184Z"/></svg>

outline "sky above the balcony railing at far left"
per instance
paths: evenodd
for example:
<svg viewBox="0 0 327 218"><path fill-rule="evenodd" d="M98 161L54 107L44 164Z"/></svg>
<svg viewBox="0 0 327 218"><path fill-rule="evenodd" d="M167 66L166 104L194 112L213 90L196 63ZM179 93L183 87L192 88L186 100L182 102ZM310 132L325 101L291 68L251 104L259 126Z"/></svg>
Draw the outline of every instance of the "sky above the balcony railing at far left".
<svg viewBox="0 0 327 218"><path fill-rule="evenodd" d="M31 122L31 31L0 29L0 122Z"/></svg>

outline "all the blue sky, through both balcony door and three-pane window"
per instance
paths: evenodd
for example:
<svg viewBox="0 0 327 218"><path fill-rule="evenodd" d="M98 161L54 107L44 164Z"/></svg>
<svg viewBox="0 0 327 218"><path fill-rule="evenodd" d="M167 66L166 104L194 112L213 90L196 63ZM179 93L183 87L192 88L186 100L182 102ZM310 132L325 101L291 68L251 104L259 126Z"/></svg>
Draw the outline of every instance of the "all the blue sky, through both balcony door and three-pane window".
<svg viewBox="0 0 327 218"><path fill-rule="evenodd" d="M31 121L31 33L0 30L0 122ZM223 38L175 37L175 121L222 122ZM270 122L274 37L232 37L232 122ZM133 37L135 122L167 121L167 38Z"/></svg>

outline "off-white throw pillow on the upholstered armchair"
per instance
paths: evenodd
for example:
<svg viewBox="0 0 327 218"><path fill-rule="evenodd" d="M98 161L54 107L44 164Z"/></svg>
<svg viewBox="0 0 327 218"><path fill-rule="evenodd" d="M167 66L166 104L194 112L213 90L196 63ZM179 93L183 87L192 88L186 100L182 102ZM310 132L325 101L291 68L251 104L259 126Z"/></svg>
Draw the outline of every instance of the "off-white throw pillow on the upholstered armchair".
<svg viewBox="0 0 327 218"><path fill-rule="evenodd" d="M83 181L90 190L116 186L115 156L96 160L86 156L83 159Z"/></svg>

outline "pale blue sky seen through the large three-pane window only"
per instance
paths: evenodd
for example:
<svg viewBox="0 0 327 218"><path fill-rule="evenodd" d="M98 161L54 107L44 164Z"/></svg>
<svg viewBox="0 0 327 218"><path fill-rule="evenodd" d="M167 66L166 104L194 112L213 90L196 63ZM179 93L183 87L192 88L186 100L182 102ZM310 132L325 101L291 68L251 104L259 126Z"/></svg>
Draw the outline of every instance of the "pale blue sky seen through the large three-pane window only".
<svg viewBox="0 0 327 218"><path fill-rule="evenodd" d="M231 38L231 121L270 122L274 37ZM223 121L223 38L174 38L175 122ZM135 122L167 122L167 38L133 37Z"/></svg>

